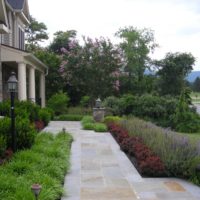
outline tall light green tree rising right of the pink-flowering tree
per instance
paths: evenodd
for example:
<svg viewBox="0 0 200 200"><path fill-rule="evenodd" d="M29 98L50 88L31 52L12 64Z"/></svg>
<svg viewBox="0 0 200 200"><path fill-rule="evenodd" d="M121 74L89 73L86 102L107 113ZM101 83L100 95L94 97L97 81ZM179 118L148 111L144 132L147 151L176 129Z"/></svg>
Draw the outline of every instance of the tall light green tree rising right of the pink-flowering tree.
<svg viewBox="0 0 200 200"><path fill-rule="evenodd" d="M124 72L127 74L125 79L128 79L125 83L129 87L127 92L141 92L144 71L149 67L149 53L157 46L153 31L128 27L120 29L116 36L123 39L120 47L124 57Z"/></svg>

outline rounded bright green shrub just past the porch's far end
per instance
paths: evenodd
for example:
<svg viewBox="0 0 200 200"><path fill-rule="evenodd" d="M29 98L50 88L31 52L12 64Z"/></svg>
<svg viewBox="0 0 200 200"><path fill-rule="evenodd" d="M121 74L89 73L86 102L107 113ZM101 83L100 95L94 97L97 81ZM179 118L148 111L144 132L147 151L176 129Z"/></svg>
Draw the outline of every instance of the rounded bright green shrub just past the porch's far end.
<svg viewBox="0 0 200 200"><path fill-rule="evenodd" d="M48 107L51 108L56 115L67 112L69 97L66 93L56 93L48 100Z"/></svg>

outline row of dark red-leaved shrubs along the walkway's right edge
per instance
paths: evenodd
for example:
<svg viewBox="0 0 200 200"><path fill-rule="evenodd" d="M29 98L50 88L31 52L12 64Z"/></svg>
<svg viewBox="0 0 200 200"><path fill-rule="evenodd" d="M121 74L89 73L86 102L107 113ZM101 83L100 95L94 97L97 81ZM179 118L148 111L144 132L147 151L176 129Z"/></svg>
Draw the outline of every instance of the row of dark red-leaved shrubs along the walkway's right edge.
<svg viewBox="0 0 200 200"><path fill-rule="evenodd" d="M142 175L163 176L165 174L163 162L149 147L143 144L141 138L129 136L128 132L118 124L109 124L108 130L119 143L120 148L136 159L137 167Z"/></svg>

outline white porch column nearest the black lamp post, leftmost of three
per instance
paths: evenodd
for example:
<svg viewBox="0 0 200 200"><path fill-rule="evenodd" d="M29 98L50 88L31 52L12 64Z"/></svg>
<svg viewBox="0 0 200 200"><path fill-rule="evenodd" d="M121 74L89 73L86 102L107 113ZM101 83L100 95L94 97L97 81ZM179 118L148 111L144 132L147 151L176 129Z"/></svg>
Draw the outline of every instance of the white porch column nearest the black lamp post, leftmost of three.
<svg viewBox="0 0 200 200"><path fill-rule="evenodd" d="M25 63L18 63L18 99L20 101L27 100Z"/></svg>

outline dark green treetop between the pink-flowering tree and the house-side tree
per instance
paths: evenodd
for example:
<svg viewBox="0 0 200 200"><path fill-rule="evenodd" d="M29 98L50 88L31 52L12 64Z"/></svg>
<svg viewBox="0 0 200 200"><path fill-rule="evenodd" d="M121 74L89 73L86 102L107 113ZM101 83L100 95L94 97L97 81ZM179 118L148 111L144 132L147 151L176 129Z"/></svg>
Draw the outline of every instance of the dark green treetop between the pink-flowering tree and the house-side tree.
<svg viewBox="0 0 200 200"><path fill-rule="evenodd" d="M69 44L70 42L76 38L76 31L69 30L69 31L58 31L54 33L54 40L50 44L49 49L54 53L62 54L61 48L65 48L67 50L70 49Z"/></svg>

